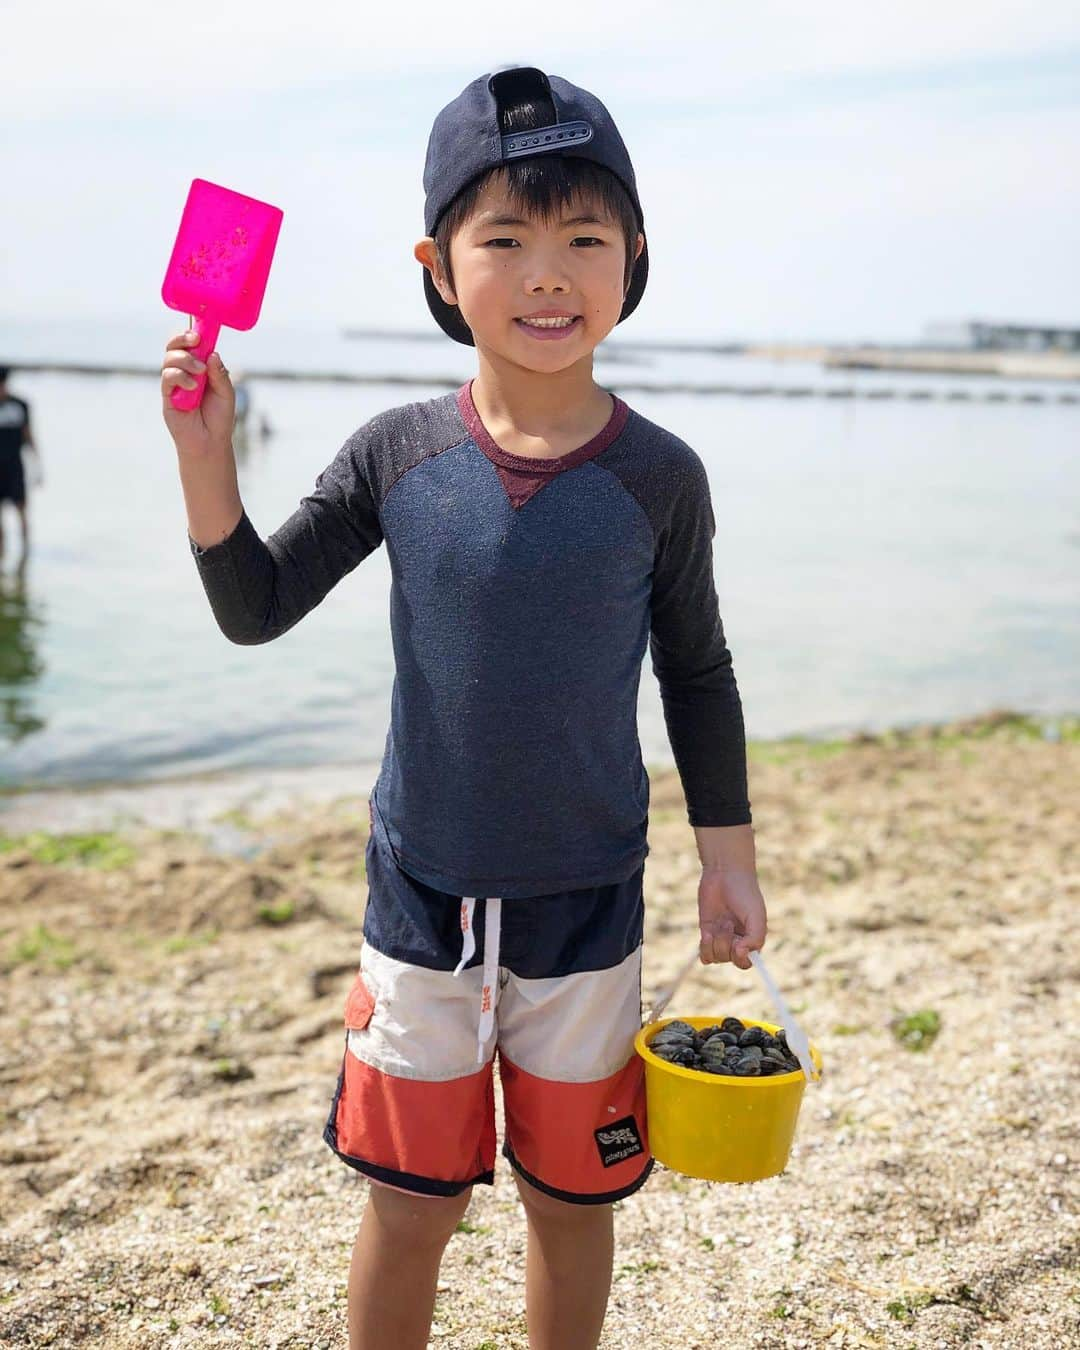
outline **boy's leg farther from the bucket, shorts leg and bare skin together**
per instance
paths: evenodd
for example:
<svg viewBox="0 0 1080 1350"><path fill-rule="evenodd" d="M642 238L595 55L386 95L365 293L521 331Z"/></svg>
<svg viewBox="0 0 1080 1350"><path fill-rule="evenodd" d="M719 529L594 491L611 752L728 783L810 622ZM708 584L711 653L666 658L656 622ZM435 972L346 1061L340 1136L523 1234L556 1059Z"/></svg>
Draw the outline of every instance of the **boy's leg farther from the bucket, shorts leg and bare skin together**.
<svg viewBox="0 0 1080 1350"><path fill-rule="evenodd" d="M348 1280L350 1350L424 1350L450 1235L494 1181L494 1031L478 1064L482 969L452 972L460 896L396 864L378 811L360 969L323 1138L371 1180Z"/></svg>

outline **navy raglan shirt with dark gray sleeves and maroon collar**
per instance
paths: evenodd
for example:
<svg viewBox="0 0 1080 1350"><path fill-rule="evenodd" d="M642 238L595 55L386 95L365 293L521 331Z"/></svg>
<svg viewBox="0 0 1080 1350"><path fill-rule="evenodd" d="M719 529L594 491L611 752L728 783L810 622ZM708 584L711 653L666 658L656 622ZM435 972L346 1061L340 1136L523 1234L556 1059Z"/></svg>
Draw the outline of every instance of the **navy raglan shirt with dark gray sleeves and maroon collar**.
<svg viewBox="0 0 1080 1350"><path fill-rule="evenodd" d="M396 676L371 794L398 864L464 896L606 886L649 852L648 647L691 825L751 821L742 707L694 450L612 396L558 459L487 435L471 381L354 432L263 541L189 539L234 643L269 643L386 543Z"/></svg>

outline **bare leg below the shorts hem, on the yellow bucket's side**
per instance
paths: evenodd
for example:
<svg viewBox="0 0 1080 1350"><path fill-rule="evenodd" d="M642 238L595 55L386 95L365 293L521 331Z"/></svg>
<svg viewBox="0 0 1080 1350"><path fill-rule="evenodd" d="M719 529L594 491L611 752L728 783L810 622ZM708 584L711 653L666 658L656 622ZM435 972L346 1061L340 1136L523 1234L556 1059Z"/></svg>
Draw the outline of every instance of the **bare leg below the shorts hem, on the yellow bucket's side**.
<svg viewBox="0 0 1080 1350"><path fill-rule="evenodd" d="M529 1220L529 1350L595 1350L612 1288L612 1206L568 1204L514 1180Z"/></svg>

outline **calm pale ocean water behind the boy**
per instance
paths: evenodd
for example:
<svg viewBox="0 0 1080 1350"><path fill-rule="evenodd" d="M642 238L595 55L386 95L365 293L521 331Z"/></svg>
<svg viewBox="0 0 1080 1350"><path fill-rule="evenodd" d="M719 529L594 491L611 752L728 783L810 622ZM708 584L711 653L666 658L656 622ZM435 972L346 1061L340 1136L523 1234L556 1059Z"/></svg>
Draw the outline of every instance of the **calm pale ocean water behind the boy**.
<svg viewBox="0 0 1080 1350"><path fill-rule="evenodd" d="M7 323L0 359L159 366L182 327L167 313ZM261 327L230 333L221 348L234 374L271 366L431 379L251 381L252 413L274 435L251 440L239 475L263 537L358 425L475 371L474 352L444 340L344 340L316 328ZM1080 707L1080 406L987 404L979 378L618 351L614 339L597 354L597 379L707 467L717 590L749 736ZM664 381L917 382L976 401L622 392ZM157 379L16 371L11 389L31 404L45 485L31 490L22 579L18 521L4 508L0 786L377 765L394 674L385 548L284 637L235 647L188 551ZM670 764L648 656L639 725L647 763Z"/></svg>

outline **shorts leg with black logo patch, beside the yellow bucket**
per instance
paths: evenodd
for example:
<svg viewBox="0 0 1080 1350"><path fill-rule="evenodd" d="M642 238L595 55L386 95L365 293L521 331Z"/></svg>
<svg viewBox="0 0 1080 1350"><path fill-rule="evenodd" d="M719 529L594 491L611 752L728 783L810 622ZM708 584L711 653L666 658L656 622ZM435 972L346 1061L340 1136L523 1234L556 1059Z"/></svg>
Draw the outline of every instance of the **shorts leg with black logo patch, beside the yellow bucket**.
<svg viewBox="0 0 1080 1350"><path fill-rule="evenodd" d="M652 1169L644 1065L633 1049L641 1026L643 873L644 867L629 882L578 892L562 914L558 905L549 915L537 909L528 956L508 953L497 1015L502 1152L554 1200L610 1203L643 1185Z"/></svg>

